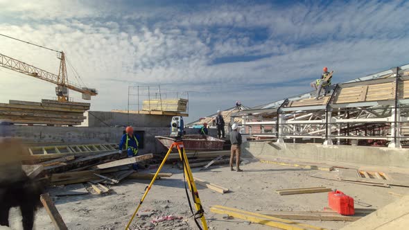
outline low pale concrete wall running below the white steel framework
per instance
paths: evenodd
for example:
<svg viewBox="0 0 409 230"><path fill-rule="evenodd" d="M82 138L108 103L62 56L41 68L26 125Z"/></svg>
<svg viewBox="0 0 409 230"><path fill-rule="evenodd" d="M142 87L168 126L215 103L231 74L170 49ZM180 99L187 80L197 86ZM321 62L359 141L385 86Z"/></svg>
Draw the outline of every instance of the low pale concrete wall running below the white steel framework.
<svg viewBox="0 0 409 230"><path fill-rule="evenodd" d="M350 145L320 145L247 141L245 154L259 159L290 157L308 161L354 163L409 168L409 150Z"/></svg>

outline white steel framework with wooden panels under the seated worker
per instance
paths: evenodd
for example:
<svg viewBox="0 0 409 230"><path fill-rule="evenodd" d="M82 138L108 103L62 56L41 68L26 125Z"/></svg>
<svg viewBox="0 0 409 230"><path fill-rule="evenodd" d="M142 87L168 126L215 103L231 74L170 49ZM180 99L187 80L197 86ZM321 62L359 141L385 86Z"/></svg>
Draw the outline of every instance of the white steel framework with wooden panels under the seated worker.
<svg viewBox="0 0 409 230"><path fill-rule="evenodd" d="M394 67L332 87L315 100L315 92L245 109L242 132L256 139L388 145L409 140L409 65Z"/></svg>

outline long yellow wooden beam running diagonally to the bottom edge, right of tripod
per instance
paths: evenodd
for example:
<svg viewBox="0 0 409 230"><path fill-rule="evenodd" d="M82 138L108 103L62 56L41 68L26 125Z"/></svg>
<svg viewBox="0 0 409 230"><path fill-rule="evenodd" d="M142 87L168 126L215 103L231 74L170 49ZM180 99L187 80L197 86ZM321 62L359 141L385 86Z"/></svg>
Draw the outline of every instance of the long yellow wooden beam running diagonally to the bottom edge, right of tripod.
<svg viewBox="0 0 409 230"><path fill-rule="evenodd" d="M239 218L242 220L247 220L250 222L264 224L270 227L276 227L279 229L289 229L289 230L305 230L305 229L319 229L326 230L321 227L315 227L310 224L304 224L295 222L293 220L286 220L281 218L275 218L269 215L263 215L259 213L252 213L249 211L243 211L241 209L229 208L226 206L214 205L210 207L212 213L218 213L222 215L229 215L234 218Z"/></svg>

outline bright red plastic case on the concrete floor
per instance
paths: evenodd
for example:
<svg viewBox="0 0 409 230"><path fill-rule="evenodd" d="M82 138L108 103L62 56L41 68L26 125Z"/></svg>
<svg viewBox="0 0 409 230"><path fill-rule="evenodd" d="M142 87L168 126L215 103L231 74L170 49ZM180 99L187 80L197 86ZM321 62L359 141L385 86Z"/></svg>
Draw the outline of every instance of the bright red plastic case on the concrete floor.
<svg viewBox="0 0 409 230"><path fill-rule="evenodd" d="M328 193L328 204L331 209L341 215L354 215L354 198L341 191Z"/></svg>

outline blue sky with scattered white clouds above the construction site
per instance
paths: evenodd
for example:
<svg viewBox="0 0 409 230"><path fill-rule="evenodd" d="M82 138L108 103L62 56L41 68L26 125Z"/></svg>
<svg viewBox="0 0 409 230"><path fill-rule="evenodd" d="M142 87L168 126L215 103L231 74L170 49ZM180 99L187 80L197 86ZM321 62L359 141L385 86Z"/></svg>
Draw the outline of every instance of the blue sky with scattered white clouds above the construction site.
<svg viewBox="0 0 409 230"><path fill-rule="evenodd" d="M69 80L98 89L92 110L127 109L128 86L160 85L189 91L193 121L311 91L322 67L337 83L407 64L408 15L409 1L0 0L0 33L64 51ZM0 36L0 53L58 73L53 51ZM0 80L2 103L55 98L21 73Z"/></svg>

